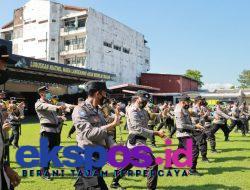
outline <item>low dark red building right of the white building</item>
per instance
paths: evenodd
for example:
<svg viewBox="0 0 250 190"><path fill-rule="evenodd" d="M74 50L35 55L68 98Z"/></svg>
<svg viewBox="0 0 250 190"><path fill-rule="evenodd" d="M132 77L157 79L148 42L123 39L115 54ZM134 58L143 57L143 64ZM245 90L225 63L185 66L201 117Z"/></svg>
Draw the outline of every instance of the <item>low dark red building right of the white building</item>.
<svg viewBox="0 0 250 190"><path fill-rule="evenodd" d="M198 91L198 81L183 75L142 73L140 84L159 88L160 93Z"/></svg>

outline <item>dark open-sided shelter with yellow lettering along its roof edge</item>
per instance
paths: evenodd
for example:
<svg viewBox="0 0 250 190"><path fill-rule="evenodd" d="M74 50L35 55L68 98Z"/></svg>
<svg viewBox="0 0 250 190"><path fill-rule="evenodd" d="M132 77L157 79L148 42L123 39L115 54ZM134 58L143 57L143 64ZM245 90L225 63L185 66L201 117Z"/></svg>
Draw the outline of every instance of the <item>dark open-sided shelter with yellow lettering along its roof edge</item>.
<svg viewBox="0 0 250 190"><path fill-rule="evenodd" d="M112 77L110 73L12 54L12 42L0 39L0 90L24 100L30 114L35 113L38 87L48 85L52 94L62 95L70 93L69 86ZM75 93L64 97L72 102L83 95Z"/></svg>

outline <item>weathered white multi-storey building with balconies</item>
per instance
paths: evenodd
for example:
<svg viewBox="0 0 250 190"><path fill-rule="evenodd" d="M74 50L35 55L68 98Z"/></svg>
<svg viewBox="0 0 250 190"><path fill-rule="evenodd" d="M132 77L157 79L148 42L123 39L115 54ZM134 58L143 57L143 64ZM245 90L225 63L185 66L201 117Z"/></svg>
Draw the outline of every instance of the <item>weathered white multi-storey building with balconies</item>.
<svg viewBox="0 0 250 190"><path fill-rule="evenodd" d="M92 8L31 0L1 29L13 53L115 74L109 85L138 83L150 69L143 34Z"/></svg>

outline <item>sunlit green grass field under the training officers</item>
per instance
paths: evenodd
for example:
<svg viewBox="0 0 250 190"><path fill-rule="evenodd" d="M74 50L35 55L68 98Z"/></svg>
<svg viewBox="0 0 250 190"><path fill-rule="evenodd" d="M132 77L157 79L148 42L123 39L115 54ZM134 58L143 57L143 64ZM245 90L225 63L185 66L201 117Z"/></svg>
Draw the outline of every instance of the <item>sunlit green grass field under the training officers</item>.
<svg viewBox="0 0 250 190"><path fill-rule="evenodd" d="M62 146L75 145L74 139L67 139L67 133L71 127L71 122L67 122L68 126L64 126L62 132ZM20 137L20 146L32 145L39 146L39 124L27 123L22 125L22 135ZM126 132L123 132L123 140L126 139ZM120 139L118 133L117 139ZM221 131L217 134L217 149L221 151L219 154L211 154L208 151L208 158L211 163L202 163L198 160L198 170L203 174L201 177L159 177L158 189L185 189L185 190L200 190L200 189L229 189L238 190L250 189L250 136L242 137L240 133L232 133L230 142L223 141ZM172 149L176 149L176 139ZM154 149L155 155L163 155L163 142L157 138L158 148ZM210 150L210 147L209 147ZM11 166L22 175L22 169L15 162L15 153L12 147ZM39 168L34 168L39 169ZM163 169L160 166L159 169ZM65 170L67 170L65 168ZM104 170L113 171L109 166ZM173 172L174 174L174 172ZM109 185L112 177L105 177L105 181ZM22 178L22 182L17 190L70 190L73 189L75 178L72 176L55 177L53 181L44 181L40 177ZM144 177L126 177L121 180L121 185L127 189L146 189L146 180Z"/></svg>

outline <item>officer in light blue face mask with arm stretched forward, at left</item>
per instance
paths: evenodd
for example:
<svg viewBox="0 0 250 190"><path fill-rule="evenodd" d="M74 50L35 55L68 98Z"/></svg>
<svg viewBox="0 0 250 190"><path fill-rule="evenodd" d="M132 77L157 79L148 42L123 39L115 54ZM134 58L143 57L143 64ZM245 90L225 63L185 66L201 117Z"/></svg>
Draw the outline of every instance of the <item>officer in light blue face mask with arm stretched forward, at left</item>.
<svg viewBox="0 0 250 190"><path fill-rule="evenodd" d="M40 99L37 100L35 104L35 110L37 116L40 120L41 137L48 139L48 148L52 150L54 146L58 146L60 144L60 122L63 120L61 116L57 115L58 111L64 111L66 109L65 106L56 106L50 103L52 98L52 94L46 86L43 86L38 89L38 93L40 95ZM42 178L45 180L51 180L49 174L49 166L44 167Z"/></svg>

